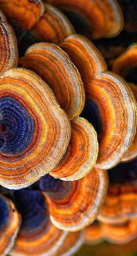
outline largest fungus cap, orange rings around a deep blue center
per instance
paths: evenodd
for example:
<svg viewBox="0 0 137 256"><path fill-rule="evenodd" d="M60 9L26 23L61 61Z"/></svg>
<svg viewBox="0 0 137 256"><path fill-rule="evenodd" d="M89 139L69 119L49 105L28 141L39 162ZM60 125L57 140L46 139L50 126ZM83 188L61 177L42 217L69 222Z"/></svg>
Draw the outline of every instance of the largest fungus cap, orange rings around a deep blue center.
<svg viewBox="0 0 137 256"><path fill-rule="evenodd" d="M3 187L23 188L49 173L70 141L70 122L46 83L27 69L0 79Z"/></svg>

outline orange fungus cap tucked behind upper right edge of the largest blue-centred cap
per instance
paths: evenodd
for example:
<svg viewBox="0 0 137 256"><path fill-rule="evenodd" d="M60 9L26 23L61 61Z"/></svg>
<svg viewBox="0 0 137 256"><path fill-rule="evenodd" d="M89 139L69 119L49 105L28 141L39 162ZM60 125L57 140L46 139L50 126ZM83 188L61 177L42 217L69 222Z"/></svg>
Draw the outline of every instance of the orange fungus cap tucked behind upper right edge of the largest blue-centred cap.
<svg viewBox="0 0 137 256"><path fill-rule="evenodd" d="M37 43L26 51L22 67L31 69L48 83L69 119L84 107L85 92L80 73L61 48L50 43Z"/></svg>

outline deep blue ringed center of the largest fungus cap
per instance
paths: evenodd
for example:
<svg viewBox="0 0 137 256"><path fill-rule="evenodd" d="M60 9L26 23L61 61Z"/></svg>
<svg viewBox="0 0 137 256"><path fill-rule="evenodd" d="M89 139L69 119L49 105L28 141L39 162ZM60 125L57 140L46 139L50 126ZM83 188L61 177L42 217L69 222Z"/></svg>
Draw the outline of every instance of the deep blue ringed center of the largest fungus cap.
<svg viewBox="0 0 137 256"><path fill-rule="evenodd" d="M13 97L0 99L0 150L6 155L18 155L30 145L35 129L33 117L23 104Z"/></svg>

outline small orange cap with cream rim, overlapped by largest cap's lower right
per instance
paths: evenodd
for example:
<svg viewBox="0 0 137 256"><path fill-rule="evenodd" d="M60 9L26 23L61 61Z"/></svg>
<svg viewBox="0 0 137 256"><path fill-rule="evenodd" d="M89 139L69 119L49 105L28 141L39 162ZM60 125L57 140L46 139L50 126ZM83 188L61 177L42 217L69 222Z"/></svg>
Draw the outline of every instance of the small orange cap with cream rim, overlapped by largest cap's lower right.
<svg viewBox="0 0 137 256"><path fill-rule="evenodd" d="M78 180L95 166L98 157L98 140L95 129L84 118L77 117L70 122L69 146L51 175L62 180Z"/></svg>

